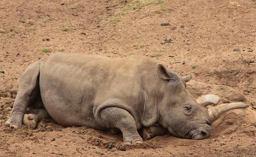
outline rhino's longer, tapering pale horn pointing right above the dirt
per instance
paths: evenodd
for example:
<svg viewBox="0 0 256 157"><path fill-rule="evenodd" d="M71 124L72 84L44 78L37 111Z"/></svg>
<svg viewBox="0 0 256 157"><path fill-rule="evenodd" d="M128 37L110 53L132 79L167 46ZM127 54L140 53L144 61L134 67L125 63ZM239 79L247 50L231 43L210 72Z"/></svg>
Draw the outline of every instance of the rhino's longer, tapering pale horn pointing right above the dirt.
<svg viewBox="0 0 256 157"><path fill-rule="evenodd" d="M230 103L230 104L220 104L216 107L212 107L211 109L208 109L209 121L211 122L215 121L219 116L221 116L223 113L231 109L246 108L248 106L249 106L248 104L244 104L244 103Z"/></svg>

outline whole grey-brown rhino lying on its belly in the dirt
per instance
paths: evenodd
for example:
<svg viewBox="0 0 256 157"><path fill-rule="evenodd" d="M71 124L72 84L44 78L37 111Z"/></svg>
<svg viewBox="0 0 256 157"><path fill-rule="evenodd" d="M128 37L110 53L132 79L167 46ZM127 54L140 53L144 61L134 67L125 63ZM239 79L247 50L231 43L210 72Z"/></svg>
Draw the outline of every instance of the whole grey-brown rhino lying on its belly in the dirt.
<svg viewBox="0 0 256 157"><path fill-rule="evenodd" d="M209 136L211 122L222 113L248 107L217 104L217 95L197 100L186 90L191 74L180 77L156 59L145 56L109 58L55 53L30 65L20 85L6 126L22 123L35 129L52 118L64 126L119 129L124 143L170 132L189 139Z"/></svg>

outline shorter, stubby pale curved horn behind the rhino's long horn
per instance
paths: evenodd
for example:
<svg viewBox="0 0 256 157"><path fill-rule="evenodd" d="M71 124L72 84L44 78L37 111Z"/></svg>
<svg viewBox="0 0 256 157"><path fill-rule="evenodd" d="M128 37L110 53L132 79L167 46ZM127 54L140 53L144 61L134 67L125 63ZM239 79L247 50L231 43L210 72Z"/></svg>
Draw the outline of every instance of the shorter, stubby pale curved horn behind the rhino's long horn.
<svg viewBox="0 0 256 157"><path fill-rule="evenodd" d="M196 99L198 104L204 107L206 107L209 104L217 104L219 100L220 100L220 97L214 94L203 95Z"/></svg>

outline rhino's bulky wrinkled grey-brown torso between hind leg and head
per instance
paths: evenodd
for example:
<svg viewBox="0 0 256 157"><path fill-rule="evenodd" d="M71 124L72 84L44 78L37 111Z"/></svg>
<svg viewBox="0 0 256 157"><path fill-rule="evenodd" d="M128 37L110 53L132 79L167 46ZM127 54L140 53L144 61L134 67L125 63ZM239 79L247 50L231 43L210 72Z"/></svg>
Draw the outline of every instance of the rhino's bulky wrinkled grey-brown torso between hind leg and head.
<svg viewBox="0 0 256 157"><path fill-rule="evenodd" d="M150 65L151 64L151 65ZM56 53L43 59L40 90L44 107L58 123L102 129L93 106L116 101L139 123L143 112L143 73L154 73L156 60L143 56L109 58Z"/></svg>

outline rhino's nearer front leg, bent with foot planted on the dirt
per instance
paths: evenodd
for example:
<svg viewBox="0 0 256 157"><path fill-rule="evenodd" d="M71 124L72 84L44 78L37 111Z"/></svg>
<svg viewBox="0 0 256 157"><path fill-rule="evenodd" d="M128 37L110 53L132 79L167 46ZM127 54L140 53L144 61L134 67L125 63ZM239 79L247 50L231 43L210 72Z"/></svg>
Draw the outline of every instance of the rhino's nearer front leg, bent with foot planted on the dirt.
<svg viewBox="0 0 256 157"><path fill-rule="evenodd" d="M127 144L143 143L140 137L134 118L125 109L108 107L102 109L99 114L98 123L106 128L120 129L123 142Z"/></svg>

